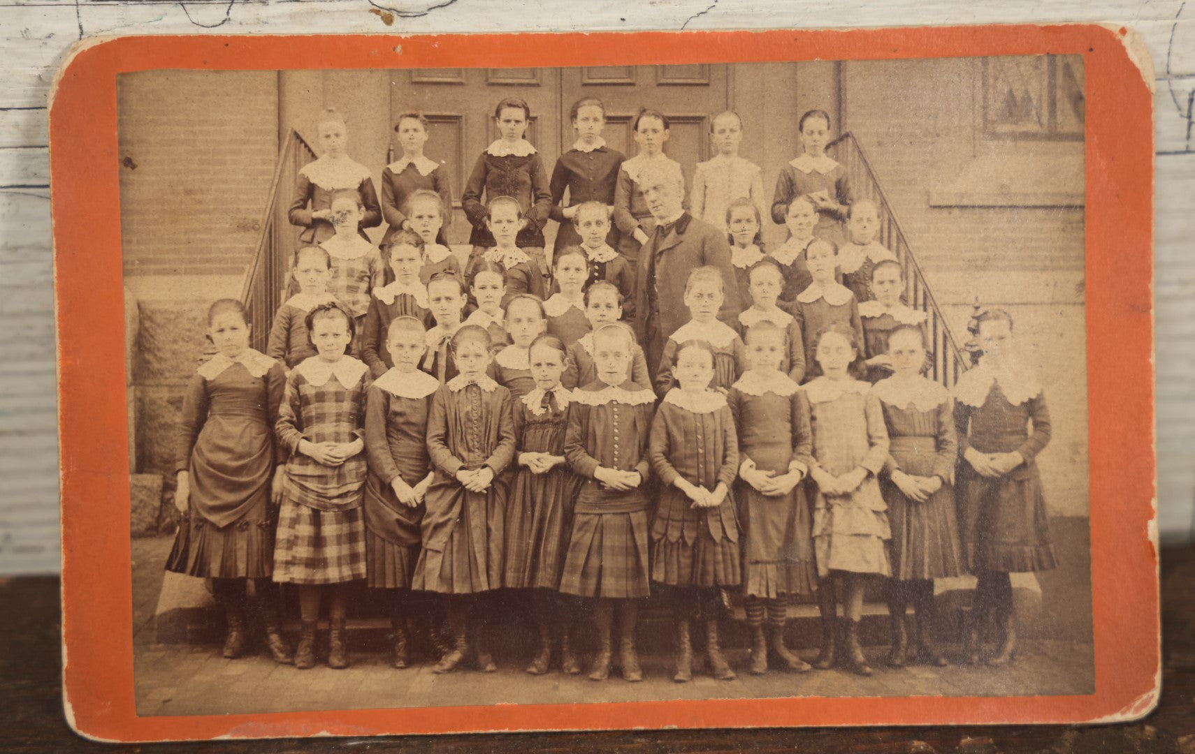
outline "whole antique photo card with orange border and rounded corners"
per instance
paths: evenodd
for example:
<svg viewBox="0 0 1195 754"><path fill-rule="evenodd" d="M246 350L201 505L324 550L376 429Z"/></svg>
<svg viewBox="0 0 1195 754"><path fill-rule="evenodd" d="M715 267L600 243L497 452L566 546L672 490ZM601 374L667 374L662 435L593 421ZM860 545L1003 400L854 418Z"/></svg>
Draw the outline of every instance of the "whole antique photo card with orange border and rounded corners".
<svg viewBox="0 0 1195 754"><path fill-rule="evenodd" d="M1145 715L1139 50L80 44L50 111L72 724Z"/></svg>

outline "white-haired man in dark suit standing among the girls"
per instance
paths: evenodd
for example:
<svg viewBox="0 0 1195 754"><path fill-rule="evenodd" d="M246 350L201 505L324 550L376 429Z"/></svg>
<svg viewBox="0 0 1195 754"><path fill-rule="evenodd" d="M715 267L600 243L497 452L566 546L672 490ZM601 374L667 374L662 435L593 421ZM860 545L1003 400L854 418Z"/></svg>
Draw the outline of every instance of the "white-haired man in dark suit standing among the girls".
<svg viewBox="0 0 1195 754"><path fill-rule="evenodd" d="M674 179L652 165L644 167L638 178L643 198L656 218L656 229L639 252L635 285L635 332L652 377L668 336L690 320L684 301L690 272L705 265L722 271L725 295L719 320L734 327L742 310L725 234L684 210Z"/></svg>

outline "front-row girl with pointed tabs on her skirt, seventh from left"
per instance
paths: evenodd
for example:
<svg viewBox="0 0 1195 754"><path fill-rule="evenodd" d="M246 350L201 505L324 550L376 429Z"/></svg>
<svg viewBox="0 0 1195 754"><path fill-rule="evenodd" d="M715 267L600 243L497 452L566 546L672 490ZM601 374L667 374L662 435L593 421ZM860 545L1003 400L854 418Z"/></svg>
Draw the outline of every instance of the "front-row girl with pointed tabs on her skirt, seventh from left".
<svg viewBox="0 0 1195 754"><path fill-rule="evenodd" d="M676 351L679 388L651 422L649 457L661 490L651 524L651 580L673 595L676 674L693 679L690 623L705 619L710 674L734 680L718 645L718 589L740 582L739 519L730 486L739 472L739 438L722 393L710 390L713 348L687 340Z"/></svg>

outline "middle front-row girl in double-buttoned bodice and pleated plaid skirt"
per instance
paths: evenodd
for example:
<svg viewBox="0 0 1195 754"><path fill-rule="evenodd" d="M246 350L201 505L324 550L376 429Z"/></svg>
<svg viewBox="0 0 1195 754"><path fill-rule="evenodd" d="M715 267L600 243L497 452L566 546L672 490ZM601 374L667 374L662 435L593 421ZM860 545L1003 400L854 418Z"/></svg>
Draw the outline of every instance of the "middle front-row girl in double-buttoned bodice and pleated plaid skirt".
<svg viewBox="0 0 1195 754"><path fill-rule="evenodd" d="M623 678L643 680L635 625L648 583L648 435L655 394L627 378L635 338L621 325L594 333L598 379L572 391L564 457L582 477L560 592L594 600L598 654L589 679L609 675L614 607Z"/></svg>

